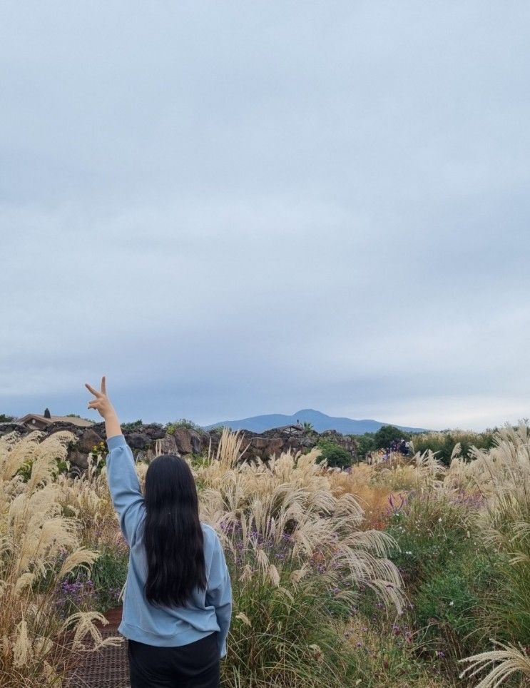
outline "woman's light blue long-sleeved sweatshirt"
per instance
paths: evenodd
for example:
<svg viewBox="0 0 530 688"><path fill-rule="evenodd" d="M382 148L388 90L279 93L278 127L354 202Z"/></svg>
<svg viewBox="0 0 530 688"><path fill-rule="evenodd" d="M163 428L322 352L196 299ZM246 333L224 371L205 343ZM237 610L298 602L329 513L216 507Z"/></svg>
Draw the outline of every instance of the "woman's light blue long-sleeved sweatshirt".
<svg viewBox="0 0 530 688"><path fill-rule="evenodd" d="M226 655L232 614L232 589L223 547L213 528L201 522L204 533L206 590L195 587L189 607L154 607L146 600L146 550L143 525L146 507L131 448L123 435L108 437L107 480L121 532L129 545L123 617L118 631L148 645L175 647L219 631L219 657Z"/></svg>

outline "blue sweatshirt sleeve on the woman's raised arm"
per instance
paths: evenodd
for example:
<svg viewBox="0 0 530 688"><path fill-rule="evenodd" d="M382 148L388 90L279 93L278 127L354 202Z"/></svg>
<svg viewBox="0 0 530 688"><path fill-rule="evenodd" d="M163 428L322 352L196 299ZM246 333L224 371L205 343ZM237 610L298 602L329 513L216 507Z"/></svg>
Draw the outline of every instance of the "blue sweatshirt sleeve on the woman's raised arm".
<svg viewBox="0 0 530 688"><path fill-rule="evenodd" d="M107 438L107 482L113 507L120 520L121 532L129 546L144 507L131 447L123 435Z"/></svg>

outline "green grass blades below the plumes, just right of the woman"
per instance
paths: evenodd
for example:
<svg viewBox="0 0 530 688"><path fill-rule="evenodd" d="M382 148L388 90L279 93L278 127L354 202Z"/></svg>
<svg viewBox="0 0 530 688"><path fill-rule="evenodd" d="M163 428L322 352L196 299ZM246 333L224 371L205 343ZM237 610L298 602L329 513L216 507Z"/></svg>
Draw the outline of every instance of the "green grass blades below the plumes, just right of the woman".
<svg viewBox="0 0 530 688"><path fill-rule="evenodd" d="M286 561L288 537L265 542L254 531L253 541L245 543L238 535L227 552L235 612L221 685L233 686L235 677L238 686L248 687L353 684L352 649L332 625L333 614L347 617L347 600L330 595L325 577L310 570L302 575L295 561ZM263 552L282 563L275 569L265 565Z"/></svg>

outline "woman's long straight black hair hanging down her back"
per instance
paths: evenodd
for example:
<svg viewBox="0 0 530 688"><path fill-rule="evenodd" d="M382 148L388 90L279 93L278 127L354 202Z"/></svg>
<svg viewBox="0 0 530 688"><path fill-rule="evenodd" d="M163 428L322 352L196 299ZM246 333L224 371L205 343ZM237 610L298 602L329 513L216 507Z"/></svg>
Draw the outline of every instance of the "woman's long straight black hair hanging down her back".
<svg viewBox="0 0 530 688"><path fill-rule="evenodd" d="M206 587L204 536L189 465L173 454L156 457L148 467L144 493L146 600L184 607L195 587Z"/></svg>

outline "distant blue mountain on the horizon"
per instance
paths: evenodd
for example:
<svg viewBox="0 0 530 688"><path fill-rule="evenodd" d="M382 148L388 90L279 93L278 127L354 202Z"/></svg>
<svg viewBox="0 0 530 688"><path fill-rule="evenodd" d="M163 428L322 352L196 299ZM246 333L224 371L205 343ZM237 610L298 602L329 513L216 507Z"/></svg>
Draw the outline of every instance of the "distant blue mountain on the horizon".
<svg viewBox="0 0 530 688"><path fill-rule="evenodd" d="M394 423L380 423L379 420L352 420L351 418L333 418L312 408L302 408L297 413L285 415L283 413L270 413L268 415L255 415L252 418L241 420L223 420L220 423L204 425L205 430L215 428L216 425L228 425L232 430L252 430L264 432L272 428L281 428L282 425L295 423L311 423L317 432L323 430L337 430L342 435L362 435L365 432L376 432L382 425L394 425ZM424 428L407 428L405 425L396 425L399 430L407 432L424 432Z"/></svg>

